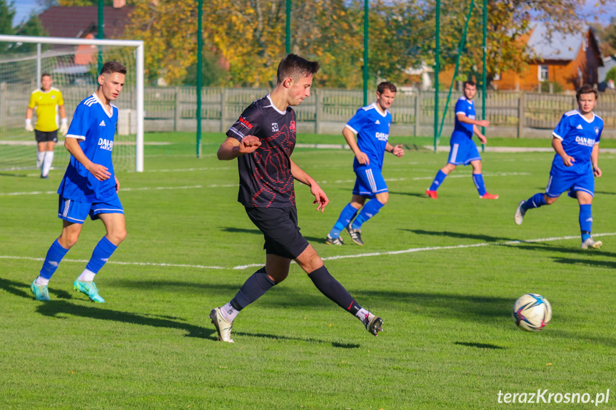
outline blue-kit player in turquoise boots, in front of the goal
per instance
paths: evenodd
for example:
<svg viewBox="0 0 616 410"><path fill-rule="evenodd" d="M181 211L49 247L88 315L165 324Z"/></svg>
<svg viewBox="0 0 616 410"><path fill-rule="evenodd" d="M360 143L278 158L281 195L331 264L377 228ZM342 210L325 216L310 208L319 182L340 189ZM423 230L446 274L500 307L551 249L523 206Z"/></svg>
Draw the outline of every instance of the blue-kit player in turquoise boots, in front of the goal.
<svg viewBox="0 0 616 410"><path fill-rule="evenodd" d="M58 188L62 233L49 248L39 277L30 286L37 300L49 300L47 285L51 275L76 244L81 227L90 215L91 220L103 221L107 233L94 248L86 269L73 282L73 287L94 302L105 302L94 276L126 237L124 210L118 198L120 183L111 162L118 122L118 108L111 101L122 91L125 75L126 68L121 63L105 63L99 75L99 88L75 110L64 142L71 153L71 162Z"/></svg>

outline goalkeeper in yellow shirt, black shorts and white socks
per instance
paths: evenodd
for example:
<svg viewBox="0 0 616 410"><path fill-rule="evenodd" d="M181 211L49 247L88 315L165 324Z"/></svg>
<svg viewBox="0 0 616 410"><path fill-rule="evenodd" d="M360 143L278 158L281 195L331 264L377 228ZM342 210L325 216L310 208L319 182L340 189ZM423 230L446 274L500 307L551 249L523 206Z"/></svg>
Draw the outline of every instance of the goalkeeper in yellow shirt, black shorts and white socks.
<svg viewBox="0 0 616 410"><path fill-rule="evenodd" d="M39 148L36 152L36 168L41 169L41 178L49 179L51 163L54 162L54 146L58 142L58 113L60 114L60 133L66 135L69 122L66 118L64 98L58 88L52 87L51 75L41 76L41 88L30 94L26 111L26 131L34 131ZM36 109L36 124L32 125L32 113Z"/></svg>

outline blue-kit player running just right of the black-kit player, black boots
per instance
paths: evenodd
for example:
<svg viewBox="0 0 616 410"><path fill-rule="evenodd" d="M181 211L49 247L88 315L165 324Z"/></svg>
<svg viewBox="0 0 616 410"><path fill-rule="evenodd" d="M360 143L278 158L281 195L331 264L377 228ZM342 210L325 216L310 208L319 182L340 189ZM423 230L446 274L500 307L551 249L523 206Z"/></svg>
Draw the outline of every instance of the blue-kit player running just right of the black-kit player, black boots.
<svg viewBox="0 0 616 410"><path fill-rule="evenodd" d="M355 153L353 170L357 179L353 187L353 198L340 212L340 217L325 238L325 242L330 245L343 245L340 232L346 230L353 242L363 246L362 224L376 215L389 200L382 174L383 156L385 151L398 158L404 155L402 145L393 146L388 143L391 125L388 108L393 103L396 91L392 83L380 83L376 89L376 102L360 108L342 131L350 149ZM355 134L358 136L357 142ZM364 206L366 198L370 200Z"/></svg>

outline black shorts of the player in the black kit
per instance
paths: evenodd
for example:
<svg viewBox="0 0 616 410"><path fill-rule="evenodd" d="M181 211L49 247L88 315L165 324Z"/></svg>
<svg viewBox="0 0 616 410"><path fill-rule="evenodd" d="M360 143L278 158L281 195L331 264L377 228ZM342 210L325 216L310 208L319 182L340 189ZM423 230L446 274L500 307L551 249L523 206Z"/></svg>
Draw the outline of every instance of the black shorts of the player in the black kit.
<svg viewBox="0 0 616 410"><path fill-rule="evenodd" d="M295 259L310 245L300 233L296 207L246 207L246 213L263 232L266 253Z"/></svg>

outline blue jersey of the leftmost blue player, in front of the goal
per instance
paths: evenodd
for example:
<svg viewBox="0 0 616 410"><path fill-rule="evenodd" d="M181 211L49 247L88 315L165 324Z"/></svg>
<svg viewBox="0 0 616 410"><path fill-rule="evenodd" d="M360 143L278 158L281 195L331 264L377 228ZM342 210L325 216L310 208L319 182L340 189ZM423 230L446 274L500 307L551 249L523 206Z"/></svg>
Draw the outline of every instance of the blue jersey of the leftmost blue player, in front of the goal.
<svg viewBox="0 0 616 410"><path fill-rule="evenodd" d="M113 136L116 134L118 108L111 106L111 113L103 108L103 103L92 94L79 103L69 127L66 138L77 138L81 150L93 163L108 168L111 178L97 180L84 165L71 155L64 178L58 188L61 197L79 202L104 202L116 196L116 180L111 162Z"/></svg>

